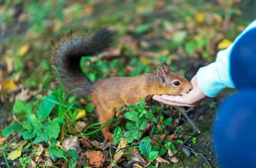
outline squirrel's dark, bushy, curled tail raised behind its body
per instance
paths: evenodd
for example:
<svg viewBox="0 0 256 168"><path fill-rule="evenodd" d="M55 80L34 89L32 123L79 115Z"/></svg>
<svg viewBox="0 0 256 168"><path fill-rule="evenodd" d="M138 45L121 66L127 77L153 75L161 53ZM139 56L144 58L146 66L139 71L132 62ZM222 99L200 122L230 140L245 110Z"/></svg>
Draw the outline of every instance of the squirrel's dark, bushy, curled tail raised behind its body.
<svg viewBox="0 0 256 168"><path fill-rule="evenodd" d="M50 63L58 70L61 81L76 95L90 95L94 85L80 69L82 56L93 56L108 48L113 41L112 32L107 28L91 33L71 31L52 42Z"/></svg>

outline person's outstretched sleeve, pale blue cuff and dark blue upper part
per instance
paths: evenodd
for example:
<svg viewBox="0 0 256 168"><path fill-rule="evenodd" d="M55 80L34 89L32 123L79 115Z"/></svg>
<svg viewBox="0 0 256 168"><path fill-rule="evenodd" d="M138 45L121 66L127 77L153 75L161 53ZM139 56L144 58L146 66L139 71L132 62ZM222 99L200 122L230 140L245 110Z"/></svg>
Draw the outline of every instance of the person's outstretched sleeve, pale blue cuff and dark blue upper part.
<svg viewBox="0 0 256 168"><path fill-rule="evenodd" d="M205 95L215 97L226 87L239 89L244 85L243 81L246 86L255 87L256 65L254 69L252 66L256 61L256 47L253 47L256 45L255 31L256 20L227 49L218 52L215 62L198 70L198 86Z"/></svg>

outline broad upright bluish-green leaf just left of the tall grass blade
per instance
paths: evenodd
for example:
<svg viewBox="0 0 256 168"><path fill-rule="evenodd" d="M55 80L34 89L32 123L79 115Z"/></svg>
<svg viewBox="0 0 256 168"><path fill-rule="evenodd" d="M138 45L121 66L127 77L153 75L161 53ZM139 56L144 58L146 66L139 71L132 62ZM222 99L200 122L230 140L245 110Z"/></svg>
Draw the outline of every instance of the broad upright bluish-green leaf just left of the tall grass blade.
<svg viewBox="0 0 256 168"><path fill-rule="evenodd" d="M57 101L57 98L53 93L48 95L47 98L44 98L39 106L38 117L41 117L39 119L41 122L50 115L53 107L55 106L55 103L50 100Z"/></svg>

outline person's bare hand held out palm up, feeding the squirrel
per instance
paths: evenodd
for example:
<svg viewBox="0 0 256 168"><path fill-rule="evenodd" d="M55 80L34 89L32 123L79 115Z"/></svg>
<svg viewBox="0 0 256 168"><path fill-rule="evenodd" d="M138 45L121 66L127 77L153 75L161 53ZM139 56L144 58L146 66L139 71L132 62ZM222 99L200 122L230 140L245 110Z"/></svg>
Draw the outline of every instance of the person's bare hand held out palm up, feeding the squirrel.
<svg viewBox="0 0 256 168"><path fill-rule="evenodd" d="M164 104L172 105L172 106L189 106L189 107L197 107L200 106L202 101L207 97L200 90L196 75L191 79L190 83L193 86L193 89L185 95L154 95L153 99Z"/></svg>

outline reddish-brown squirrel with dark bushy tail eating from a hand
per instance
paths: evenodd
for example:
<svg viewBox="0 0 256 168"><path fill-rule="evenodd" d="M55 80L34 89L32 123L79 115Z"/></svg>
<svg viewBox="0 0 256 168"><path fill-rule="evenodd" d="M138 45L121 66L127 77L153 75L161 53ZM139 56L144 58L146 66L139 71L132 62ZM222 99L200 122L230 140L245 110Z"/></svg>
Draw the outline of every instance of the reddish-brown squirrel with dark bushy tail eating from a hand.
<svg viewBox="0 0 256 168"><path fill-rule="evenodd" d="M92 83L81 71L81 57L96 55L109 48L112 42L113 31L101 28L90 33L71 31L62 34L50 46L50 63L58 70L62 83L69 90L87 88L75 90L73 94L91 95L99 122L111 120L115 110L120 114L125 105L139 104L140 98L163 94L183 95L192 90L192 84L184 76L170 70L166 63L157 67L157 75L144 73L132 77L109 77ZM102 134L104 142L113 143L110 125L102 129Z"/></svg>

